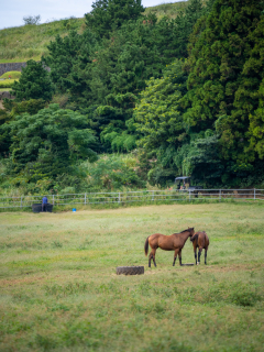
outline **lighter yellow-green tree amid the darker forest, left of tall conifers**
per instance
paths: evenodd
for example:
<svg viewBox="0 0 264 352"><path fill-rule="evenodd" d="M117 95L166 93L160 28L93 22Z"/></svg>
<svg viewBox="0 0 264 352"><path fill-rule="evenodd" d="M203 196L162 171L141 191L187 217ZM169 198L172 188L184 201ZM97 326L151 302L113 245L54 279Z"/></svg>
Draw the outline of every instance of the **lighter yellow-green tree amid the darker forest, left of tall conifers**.
<svg viewBox="0 0 264 352"><path fill-rule="evenodd" d="M163 70L163 77L148 80L134 109L136 130L142 146L152 163L148 180L165 185L172 182L179 166L175 158L178 148L188 142L183 123L180 100L186 94L187 75L182 69L183 62L175 61Z"/></svg>

